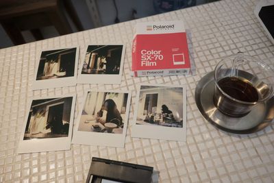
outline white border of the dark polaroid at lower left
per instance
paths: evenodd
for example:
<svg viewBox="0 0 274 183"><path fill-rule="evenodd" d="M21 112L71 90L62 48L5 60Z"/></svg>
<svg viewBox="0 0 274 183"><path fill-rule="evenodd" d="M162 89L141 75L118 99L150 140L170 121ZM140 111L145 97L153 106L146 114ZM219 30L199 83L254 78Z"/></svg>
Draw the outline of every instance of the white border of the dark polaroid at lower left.
<svg viewBox="0 0 274 183"><path fill-rule="evenodd" d="M27 125L28 112L32 107L32 101L38 99L55 99L55 98L66 98L73 97L71 102L71 117L69 121L69 135L66 137L55 137L55 138L33 138L29 140L23 140L25 135L25 127ZM61 151L68 150L71 148L71 137L73 130L73 121L74 121L74 112L75 112L75 101L76 95L62 95L62 96L49 96L49 97L36 97L29 101L27 105L27 113L25 114L25 121L22 127L22 134L20 137L20 141L18 143L17 153L25 154L25 153L36 153L36 152L44 152L44 151Z"/></svg>

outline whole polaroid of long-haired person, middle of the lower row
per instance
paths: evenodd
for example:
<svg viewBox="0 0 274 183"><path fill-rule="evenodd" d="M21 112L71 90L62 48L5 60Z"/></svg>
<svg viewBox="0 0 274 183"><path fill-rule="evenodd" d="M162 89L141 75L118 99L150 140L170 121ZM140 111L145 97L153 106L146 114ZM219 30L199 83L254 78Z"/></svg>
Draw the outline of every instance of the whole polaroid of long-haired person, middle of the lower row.
<svg viewBox="0 0 274 183"><path fill-rule="evenodd" d="M73 130L73 144L124 147L131 93L88 91Z"/></svg>

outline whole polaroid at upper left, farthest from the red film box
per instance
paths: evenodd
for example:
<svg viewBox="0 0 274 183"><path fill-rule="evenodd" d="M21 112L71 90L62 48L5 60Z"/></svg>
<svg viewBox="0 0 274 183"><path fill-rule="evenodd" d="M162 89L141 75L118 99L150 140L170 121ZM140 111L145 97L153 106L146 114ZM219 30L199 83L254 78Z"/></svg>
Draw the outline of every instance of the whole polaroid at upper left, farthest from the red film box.
<svg viewBox="0 0 274 183"><path fill-rule="evenodd" d="M36 66L33 90L75 86L78 56L78 47L42 51Z"/></svg>

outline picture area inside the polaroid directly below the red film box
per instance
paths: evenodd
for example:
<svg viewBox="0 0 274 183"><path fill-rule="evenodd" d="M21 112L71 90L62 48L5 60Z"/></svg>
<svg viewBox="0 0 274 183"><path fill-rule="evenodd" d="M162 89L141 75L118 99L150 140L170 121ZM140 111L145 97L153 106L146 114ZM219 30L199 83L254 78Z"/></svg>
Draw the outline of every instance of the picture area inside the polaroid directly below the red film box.
<svg viewBox="0 0 274 183"><path fill-rule="evenodd" d="M140 87L137 124L183 127L184 95L182 88Z"/></svg>

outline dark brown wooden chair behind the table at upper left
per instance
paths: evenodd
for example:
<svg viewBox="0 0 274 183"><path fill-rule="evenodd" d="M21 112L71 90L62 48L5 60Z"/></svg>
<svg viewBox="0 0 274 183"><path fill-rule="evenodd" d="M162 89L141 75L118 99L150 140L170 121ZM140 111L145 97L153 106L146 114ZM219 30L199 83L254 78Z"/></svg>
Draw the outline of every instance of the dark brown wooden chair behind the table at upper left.
<svg viewBox="0 0 274 183"><path fill-rule="evenodd" d="M40 27L49 25L53 25L60 35L70 34L73 30L61 9L62 5L77 29L82 31L83 27L68 0L1 0L0 23L14 45L25 43L21 34L25 30L32 32L36 40L42 40Z"/></svg>

